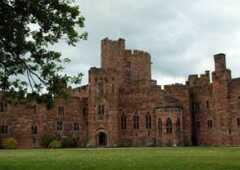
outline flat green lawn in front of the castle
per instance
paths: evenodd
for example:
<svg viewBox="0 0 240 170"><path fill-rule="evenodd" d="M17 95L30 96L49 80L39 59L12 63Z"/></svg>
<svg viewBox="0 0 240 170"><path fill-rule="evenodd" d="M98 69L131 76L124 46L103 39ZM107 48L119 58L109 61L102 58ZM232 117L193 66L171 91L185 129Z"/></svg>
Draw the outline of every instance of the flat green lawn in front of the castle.
<svg viewBox="0 0 240 170"><path fill-rule="evenodd" d="M0 170L240 170L240 148L0 150Z"/></svg>

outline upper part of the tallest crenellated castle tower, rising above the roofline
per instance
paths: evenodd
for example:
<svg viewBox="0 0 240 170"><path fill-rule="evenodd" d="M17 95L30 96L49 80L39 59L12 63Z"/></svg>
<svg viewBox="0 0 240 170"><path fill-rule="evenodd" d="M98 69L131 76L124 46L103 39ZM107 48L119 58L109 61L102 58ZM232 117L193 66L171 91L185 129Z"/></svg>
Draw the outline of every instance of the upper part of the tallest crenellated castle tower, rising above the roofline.
<svg viewBox="0 0 240 170"><path fill-rule="evenodd" d="M143 50L125 48L125 40L102 40L101 68L116 70L123 82L151 80L151 56Z"/></svg>

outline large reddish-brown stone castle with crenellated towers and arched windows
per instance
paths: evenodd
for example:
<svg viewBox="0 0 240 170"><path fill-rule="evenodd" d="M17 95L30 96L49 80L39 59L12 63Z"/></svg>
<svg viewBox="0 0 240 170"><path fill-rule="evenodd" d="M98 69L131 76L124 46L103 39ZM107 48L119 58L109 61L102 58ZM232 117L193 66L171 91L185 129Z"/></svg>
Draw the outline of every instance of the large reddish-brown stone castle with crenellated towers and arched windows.
<svg viewBox="0 0 240 170"><path fill-rule="evenodd" d="M240 145L240 78L231 77L224 54L214 60L212 78L206 71L162 88L149 53L103 39L101 67L67 100L47 109L0 99L0 138L14 137L19 148L40 147L46 133L76 136L82 146Z"/></svg>

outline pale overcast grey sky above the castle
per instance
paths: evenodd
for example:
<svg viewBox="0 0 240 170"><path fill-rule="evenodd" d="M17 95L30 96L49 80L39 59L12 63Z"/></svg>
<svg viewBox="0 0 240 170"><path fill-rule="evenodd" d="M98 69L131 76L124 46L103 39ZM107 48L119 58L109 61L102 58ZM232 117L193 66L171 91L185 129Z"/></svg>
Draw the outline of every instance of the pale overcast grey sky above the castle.
<svg viewBox="0 0 240 170"><path fill-rule="evenodd" d="M72 62L68 73L100 66L100 41L126 39L126 47L148 51L158 84L183 83L189 74L213 70L213 55L226 53L240 76L239 0L78 0L86 18L87 41L56 48Z"/></svg>

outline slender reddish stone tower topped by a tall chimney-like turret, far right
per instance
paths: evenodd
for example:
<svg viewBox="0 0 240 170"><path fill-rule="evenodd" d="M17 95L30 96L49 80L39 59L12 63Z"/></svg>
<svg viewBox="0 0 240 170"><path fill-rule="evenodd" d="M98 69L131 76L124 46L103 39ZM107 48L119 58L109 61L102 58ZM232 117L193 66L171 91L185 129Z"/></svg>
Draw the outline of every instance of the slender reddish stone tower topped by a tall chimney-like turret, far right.
<svg viewBox="0 0 240 170"><path fill-rule="evenodd" d="M229 106L229 83L231 70L226 68L225 54L214 55L215 71L212 73L212 98L214 103L214 133L216 142L231 145L231 121L232 115Z"/></svg>

